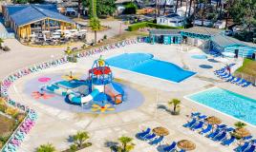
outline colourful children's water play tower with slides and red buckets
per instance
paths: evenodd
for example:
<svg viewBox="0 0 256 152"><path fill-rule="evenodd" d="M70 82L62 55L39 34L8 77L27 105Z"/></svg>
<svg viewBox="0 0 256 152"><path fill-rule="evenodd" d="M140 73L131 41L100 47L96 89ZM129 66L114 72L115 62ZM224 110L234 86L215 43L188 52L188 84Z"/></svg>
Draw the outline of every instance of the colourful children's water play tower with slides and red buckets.
<svg viewBox="0 0 256 152"><path fill-rule="evenodd" d="M54 82L44 85L41 89L65 97L71 104L121 104L124 91L113 83L112 70L109 65L99 57L88 71L86 80L79 80L69 75L69 80Z"/></svg>

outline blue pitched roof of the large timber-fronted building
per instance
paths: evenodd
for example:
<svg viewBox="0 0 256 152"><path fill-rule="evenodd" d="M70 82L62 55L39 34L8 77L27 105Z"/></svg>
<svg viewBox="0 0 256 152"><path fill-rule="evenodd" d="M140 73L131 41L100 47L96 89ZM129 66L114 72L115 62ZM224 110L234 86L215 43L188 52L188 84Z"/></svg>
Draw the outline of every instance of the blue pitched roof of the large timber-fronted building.
<svg viewBox="0 0 256 152"><path fill-rule="evenodd" d="M17 26L24 26L35 21L43 20L45 18L51 18L72 24L75 23L68 17L56 11L43 9L44 7L38 6L31 5L23 10L16 11L15 13L11 14L11 19L15 22Z"/></svg>

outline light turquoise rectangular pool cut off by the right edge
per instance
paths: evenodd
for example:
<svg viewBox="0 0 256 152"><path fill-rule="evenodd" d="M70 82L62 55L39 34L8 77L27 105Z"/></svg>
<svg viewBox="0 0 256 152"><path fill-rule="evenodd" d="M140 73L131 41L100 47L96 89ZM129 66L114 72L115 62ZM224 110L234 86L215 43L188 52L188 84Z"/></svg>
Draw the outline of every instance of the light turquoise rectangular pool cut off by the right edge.
<svg viewBox="0 0 256 152"><path fill-rule="evenodd" d="M256 125L256 100L254 99L218 87L187 97L197 103Z"/></svg>

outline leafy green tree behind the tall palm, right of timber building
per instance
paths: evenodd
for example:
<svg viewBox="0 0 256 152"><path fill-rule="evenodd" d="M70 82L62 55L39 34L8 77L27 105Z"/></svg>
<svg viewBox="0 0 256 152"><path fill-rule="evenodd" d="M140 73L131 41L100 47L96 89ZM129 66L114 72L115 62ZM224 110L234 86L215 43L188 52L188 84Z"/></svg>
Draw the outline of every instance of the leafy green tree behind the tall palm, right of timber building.
<svg viewBox="0 0 256 152"><path fill-rule="evenodd" d="M97 0L96 1L96 15L102 16L102 15L113 15L116 8L116 1L117 0ZM92 17L92 7L91 7L92 0L84 0L83 6L85 8L89 8L89 17Z"/></svg>

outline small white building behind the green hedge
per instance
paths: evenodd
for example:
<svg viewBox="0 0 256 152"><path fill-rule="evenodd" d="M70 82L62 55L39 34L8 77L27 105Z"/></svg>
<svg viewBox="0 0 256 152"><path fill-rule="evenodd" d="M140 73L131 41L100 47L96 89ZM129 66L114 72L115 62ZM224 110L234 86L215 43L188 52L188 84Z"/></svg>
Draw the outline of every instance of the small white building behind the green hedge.
<svg viewBox="0 0 256 152"><path fill-rule="evenodd" d="M157 18L158 25L170 26L170 27L182 27L184 26L185 18L176 13L172 13L166 16L160 16Z"/></svg>

